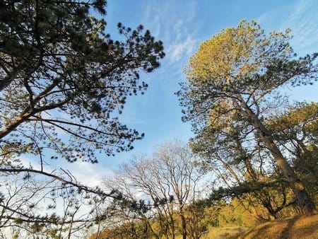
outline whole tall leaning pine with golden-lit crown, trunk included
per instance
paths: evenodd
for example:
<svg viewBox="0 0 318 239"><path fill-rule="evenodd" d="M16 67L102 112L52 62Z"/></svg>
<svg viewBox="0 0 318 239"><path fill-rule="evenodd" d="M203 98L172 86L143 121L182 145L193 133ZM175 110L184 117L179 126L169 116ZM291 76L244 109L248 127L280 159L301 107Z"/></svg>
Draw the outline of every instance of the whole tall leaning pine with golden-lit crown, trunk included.
<svg viewBox="0 0 318 239"><path fill-rule="evenodd" d="M231 139L232 144L236 144L235 139L243 140L247 153L251 153L250 146L266 148L298 203L309 213L314 211L312 199L290 167L288 154L281 151L270 127L266 127L266 119L286 105L278 88L312 83L318 78L317 54L296 59L289 32L268 36L254 21L222 30L203 42L190 58L185 70L188 81L177 94L184 107L184 121L192 122L196 134L193 141L202 144L212 136L211 144L223 146Z"/></svg>

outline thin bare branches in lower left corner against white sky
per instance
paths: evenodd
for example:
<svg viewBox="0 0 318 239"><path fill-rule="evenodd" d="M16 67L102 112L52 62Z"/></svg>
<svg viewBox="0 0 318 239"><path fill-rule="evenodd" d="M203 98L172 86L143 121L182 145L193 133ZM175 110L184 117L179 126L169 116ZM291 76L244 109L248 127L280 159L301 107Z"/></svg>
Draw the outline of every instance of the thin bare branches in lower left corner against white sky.
<svg viewBox="0 0 318 239"><path fill-rule="evenodd" d="M65 170L54 170L42 177L34 169L25 169L23 175L3 173L0 185L3 236L13 233L70 238L92 226L96 218L105 218L107 211L103 215L96 211L108 197L115 197L97 187L81 185Z"/></svg>

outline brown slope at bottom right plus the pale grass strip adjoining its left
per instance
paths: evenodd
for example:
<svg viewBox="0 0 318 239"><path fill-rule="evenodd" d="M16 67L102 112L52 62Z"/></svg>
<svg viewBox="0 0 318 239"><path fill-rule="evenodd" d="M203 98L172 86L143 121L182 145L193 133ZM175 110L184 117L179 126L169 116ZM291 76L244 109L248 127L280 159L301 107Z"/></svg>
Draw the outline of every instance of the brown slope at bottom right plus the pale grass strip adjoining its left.
<svg viewBox="0 0 318 239"><path fill-rule="evenodd" d="M318 239L318 215L295 216L262 223L249 231L242 228L218 228L209 231L204 239Z"/></svg>

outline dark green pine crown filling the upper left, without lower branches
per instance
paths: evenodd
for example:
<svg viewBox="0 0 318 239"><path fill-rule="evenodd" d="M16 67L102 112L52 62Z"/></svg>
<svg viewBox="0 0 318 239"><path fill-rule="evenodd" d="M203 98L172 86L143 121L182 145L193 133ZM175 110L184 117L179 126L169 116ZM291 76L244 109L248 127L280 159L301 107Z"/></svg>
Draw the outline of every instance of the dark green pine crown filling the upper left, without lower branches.
<svg viewBox="0 0 318 239"><path fill-rule="evenodd" d="M95 152L133 148L141 139L119 122L126 98L143 93L139 71L151 72L163 44L140 25L118 24L112 40L106 1L1 1L0 139L10 156L55 151L54 158L97 162ZM61 134L67 134L62 137ZM1 153L2 154L2 153ZM7 155L8 156L8 155Z"/></svg>

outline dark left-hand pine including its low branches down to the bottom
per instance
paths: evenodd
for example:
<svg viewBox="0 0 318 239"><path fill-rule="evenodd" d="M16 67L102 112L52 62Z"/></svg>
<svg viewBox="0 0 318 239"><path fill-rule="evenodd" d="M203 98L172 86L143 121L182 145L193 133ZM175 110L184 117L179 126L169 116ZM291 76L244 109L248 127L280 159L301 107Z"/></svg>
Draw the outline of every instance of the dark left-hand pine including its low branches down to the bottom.
<svg viewBox="0 0 318 239"><path fill-rule="evenodd" d="M97 163L143 138L122 124L120 114L130 95L146 90L139 74L159 67L163 42L142 25L133 30L122 23L119 40L112 39L103 18L106 4L0 3L1 227L61 235L69 224L70 236L78 230L73 223L86 227L95 220L94 210L74 217L81 200L116 197L82 185L51 161ZM23 164L21 156L34 164ZM91 201L91 193L100 199ZM62 216L55 214L57 201L65 206Z"/></svg>

